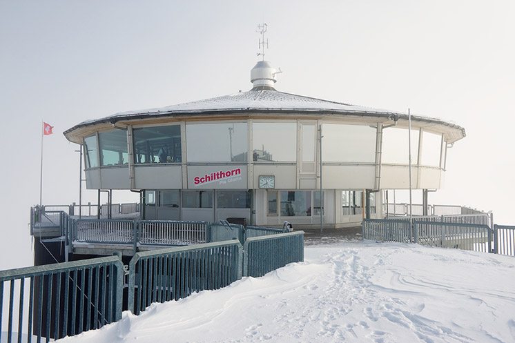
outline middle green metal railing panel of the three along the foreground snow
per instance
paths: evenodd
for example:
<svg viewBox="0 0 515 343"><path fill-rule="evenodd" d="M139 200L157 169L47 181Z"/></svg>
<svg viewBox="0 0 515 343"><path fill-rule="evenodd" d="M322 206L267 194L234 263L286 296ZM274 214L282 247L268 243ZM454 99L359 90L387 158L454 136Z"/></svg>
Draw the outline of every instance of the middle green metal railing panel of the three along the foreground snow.
<svg viewBox="0 0 515 343"><path fill-rule="evenodd" d="M138 315L153 302L219 289L242 277L238 241L137 253L130 260L128 309Z"/></svg>

